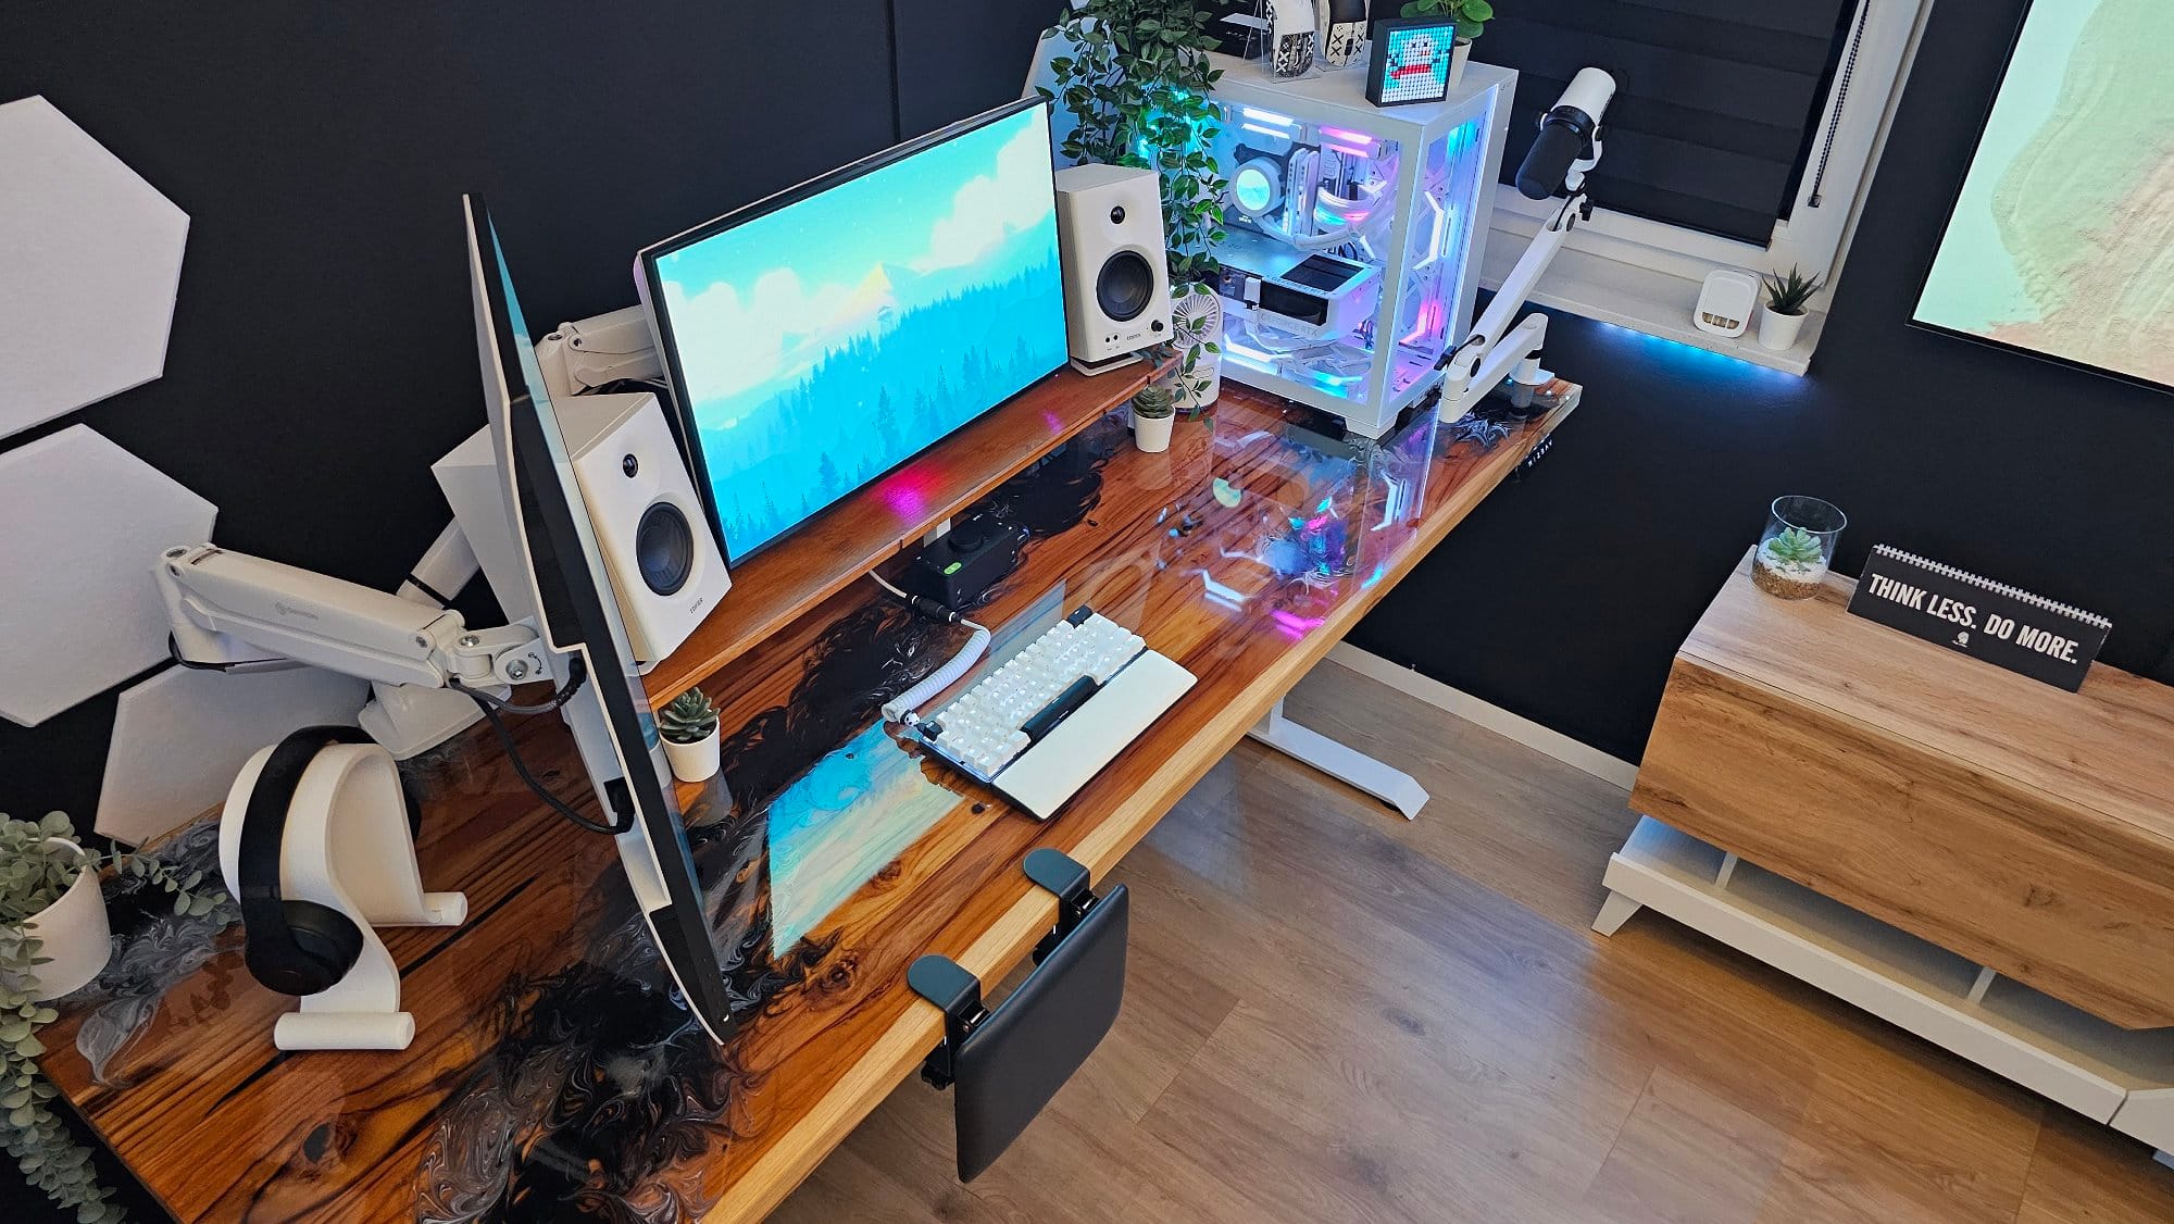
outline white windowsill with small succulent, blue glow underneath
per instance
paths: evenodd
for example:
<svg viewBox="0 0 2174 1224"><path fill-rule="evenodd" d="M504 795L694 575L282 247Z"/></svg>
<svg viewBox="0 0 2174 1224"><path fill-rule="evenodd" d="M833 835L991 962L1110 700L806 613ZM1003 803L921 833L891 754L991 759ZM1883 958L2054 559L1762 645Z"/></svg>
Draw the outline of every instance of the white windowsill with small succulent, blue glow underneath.
<svg viewBox="0 0 2174 1224"><path fill-rule="evenodd" d="M1487 254L1480 259L1480 285L1500 289L1524 248L1524 235L1491 230ZM1704 348L1767 370L1804 374L1811 367L1811 352L1820 346L1820 333L1826 330L1826 311L1813 311L1804 320L1804 335L1796 348L1774 352L1759 346L1757 320L1737 339L1691 326L1698 291L1698 280L1563 248L1548 274L1541 276L1539 289L1533 291L1533 304Z"/></svg>

